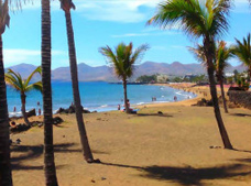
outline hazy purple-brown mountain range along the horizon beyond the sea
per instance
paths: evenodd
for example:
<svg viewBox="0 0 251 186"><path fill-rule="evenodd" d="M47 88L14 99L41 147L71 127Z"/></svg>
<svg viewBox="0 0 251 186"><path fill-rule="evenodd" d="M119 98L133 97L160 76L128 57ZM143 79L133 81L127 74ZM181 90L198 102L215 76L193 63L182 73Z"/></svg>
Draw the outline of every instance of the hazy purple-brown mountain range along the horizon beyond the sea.
<svg viewBox="0 0 251 186"><path fill-rule="evenodd" d="M22 77L26 78L36 68L36 66L30 64L19 64L9 68L20 73ZM238 72L243 72L245 67L242 65L230 65L227 68L226 73L232 73L234 69ZM157 73L172 76L184 76L186 74L206 74L206 70L200 64L182 64L179 62L174 62L172 64L145 62L135 66L135 72L132 80L142 75L153 75ZM34 79L39 78L39 76L34 77ZM78 79L79 81L118 81L118 78L113 75L112 68L109 66L103 65L91 67L84 63L78 64ZM53 69L52 80L70 81L69 67L58 67L56 69Z"/></svg>

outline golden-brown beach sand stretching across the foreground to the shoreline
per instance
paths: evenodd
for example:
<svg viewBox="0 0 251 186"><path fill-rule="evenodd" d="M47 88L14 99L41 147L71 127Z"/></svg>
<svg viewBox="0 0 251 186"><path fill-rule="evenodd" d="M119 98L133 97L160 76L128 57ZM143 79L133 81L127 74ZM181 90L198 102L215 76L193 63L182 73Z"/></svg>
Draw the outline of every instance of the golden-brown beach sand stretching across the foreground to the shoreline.
<svg viewBox="0 0 251 186"><path fill-rule="evenodd" d="M179 85L184 88L185 85ZM177 88L177 87L176 87ZM89 143L101 164L84 161L74 114L54 127L61 186L248 186L251 185L251 110L229 109L222 118L234 151L222 149L212 107L190 107L198 98L142 106L138 114L120 111L84 114ZM209 95L208 95L209 96ZM163 114L157 114L162 111ZM42 117L31 120L42 120ZM11 134L15 186L41 186L43 129Z"/></svg>

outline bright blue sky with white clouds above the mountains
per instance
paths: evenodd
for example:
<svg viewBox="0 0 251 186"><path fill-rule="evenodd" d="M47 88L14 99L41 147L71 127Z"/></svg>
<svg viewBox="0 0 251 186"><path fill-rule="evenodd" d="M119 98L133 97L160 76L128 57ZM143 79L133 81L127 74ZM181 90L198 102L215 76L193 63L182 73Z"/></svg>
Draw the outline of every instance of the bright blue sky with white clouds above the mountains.
<svg viewBox="0 0 251 186"><path fill-rule="evenodd" d="M106 45L114 48L121 42L134 47L149 44L141 63L157 62L183 64L198 63L187 46L196 40L176 28L160 30L146 25L162 0L73 0L72 11L77 63L89 66L107 65L98 52ZM65 15L58 0L51 2L52 12L52 68L69 66ZM21 11L10 12L10 28L3 34L4 67L21 63L41 64L41 0L22 6ZM229 31L221 39L229 45L251 32L251 7L248 0L234 0L229 17ZM239 65L238 59L231 61Z"/></svg>

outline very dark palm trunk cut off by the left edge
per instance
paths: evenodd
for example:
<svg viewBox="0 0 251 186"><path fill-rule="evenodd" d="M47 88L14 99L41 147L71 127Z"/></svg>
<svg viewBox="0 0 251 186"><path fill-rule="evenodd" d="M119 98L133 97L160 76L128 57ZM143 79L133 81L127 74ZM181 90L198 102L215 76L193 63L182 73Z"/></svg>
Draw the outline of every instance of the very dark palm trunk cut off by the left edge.
<svg viewBox="0 0 251 186"><path fill-rule="evenodd" d="M7 89L2 56L2 36L0 35L0 185L12 186L10 163L10 133L7 107Z"/></svg>

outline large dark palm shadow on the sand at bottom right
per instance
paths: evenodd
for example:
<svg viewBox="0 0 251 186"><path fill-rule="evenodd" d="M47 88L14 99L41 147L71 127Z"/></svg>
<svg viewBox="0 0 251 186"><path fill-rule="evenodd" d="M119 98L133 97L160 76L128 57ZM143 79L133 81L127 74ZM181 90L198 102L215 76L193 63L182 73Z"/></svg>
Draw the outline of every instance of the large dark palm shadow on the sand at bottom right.
<svg viewBox="0 0 251 186"><path fill-rule="evenodd" d="M118 166L123 168L135 168L141 172L141 177L148 177L152 179L175 182L184 186L203 186L203 180L208 179L226 179L234 178L240 176L251 175L250 166L242 164L232 164L229 166L219 167L203 167L194 168L187 167L175 167L175 166L130 166L112 163L101 163L108 166Z"/></svg>

